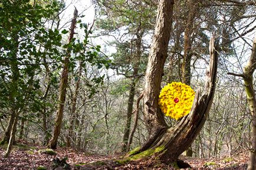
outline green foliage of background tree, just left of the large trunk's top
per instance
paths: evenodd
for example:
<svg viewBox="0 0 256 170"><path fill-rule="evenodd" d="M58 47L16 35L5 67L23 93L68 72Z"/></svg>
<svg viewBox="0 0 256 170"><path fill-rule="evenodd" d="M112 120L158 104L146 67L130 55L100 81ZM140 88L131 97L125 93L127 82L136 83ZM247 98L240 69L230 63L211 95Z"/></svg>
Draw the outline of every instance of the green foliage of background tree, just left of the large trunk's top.
<svg viewBox="0 0 256 170"><path fill-rule="evenodd" d="M145 32L153 29L150 23L155 22L156 6L145 4L143 2L134 1L97 1L100 7L101 18L97 19L96 25L100 29L104 29L104 32L123 32L123 38L125 41L111 42L116 46L117 52L111 55L113 58L113 65L111 68L116 69L117 74L124 76L132 76L134 66L139 62L139 73L146 69L146 60L142 59L142 56L147 58L147 55L142 50L140 56L136 56L136 38L143 36ZM106 17L105 17L106 16ZM140 59L138 59L140 58Z"/></svg>

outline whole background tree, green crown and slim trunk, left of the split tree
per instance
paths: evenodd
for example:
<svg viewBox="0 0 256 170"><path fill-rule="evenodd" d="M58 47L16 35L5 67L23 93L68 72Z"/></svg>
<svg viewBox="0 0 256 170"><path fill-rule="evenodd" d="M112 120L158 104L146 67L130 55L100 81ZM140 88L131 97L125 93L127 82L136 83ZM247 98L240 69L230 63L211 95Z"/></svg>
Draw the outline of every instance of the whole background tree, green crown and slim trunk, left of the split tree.
<svg viewBox="0 0 256 170"><path fill-rule="evenodd" d="M140 65L143 65L143 36L152 28L153 5L144 1L97 1L101 11L107 18L99 19L98 25L106 32L116 32L126 29L125 42L116 41L117 52L114 54L113 68L117 74L129 79L129 96L127 99L126 123L124 125L122 151L127 151L127 143L132 123L133 103L136 95L136 84L143 75ZM111 24L111 25L110 25ZM120 30L119 30L120 29ZM113 31L114 30L114 31ZM119 32L120 34L120 32ZM117 38L116 38L117 39ZM129 39L129 40L128 40ZM129 149L128 149L129 150Z"/></svg>

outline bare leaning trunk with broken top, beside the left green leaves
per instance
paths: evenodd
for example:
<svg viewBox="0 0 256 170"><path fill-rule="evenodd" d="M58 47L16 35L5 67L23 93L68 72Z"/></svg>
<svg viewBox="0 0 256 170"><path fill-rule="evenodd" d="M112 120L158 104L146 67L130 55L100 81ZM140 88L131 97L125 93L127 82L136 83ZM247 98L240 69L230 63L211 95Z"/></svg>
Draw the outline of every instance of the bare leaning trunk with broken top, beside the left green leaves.
<svg viewBox="0 0 256 170"><path fill-rule="evenodd" d="M74 10L74 16L71 22L70 27L70 35L68 37L68 43L71 43L71 40L74 37L74 29L76 28L76 19L77 19L78 11L75 8ZM64 66L63 66L63 72L61 74L61 82L60 82L60 95L58 98L59 104L58 104L58 112L55 119L55 127L54 127L54 133L52 135L51 141L48 144L48 147L52 149L57 148L57 139L60 135L61 131L61 123L63 119L63 111L64 111L64 104L65 104L65 95L67 91L67 83L68 83L68 66L70 64L70 50L67 51L67 56L65 56L64 59Z"/></svg>

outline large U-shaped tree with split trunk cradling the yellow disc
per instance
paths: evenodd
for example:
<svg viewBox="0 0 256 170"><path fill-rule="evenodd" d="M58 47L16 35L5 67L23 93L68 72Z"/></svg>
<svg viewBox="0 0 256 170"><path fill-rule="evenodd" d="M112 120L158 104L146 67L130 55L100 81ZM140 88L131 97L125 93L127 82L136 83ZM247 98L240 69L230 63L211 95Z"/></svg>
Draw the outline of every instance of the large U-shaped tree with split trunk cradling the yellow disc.
<svg viewBox="0 0 256 170"><path fill-rule="evenodd" d="M175 126L168 128L158 106L158 96L163 66L167 57L173 4L173 1L159 1L155 35L147 64L144 92L145 119L150 127L150 136L141 148L130 154L130 156L155 154L154 156L166 163L176 161L178 156L192 144L204 125L214 97L218 56L215 51L213 37L209 47L211 61L209 70L206 72L207 79L204 94L199 98L199 93L197 92L191 113L178 121Z"/></svg>

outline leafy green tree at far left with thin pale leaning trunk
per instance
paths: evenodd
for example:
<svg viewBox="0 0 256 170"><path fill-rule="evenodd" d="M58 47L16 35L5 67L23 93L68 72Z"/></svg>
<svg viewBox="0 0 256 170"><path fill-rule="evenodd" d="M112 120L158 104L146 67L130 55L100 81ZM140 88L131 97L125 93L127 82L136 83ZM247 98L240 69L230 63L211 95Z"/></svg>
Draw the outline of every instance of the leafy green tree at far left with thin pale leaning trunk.
<svg viewBox="0 0 256 170"><path fill-rule="evenodd" d="M8 127L1 144L8 142L5 156L8 157L15 141L17 122L21 113L40 108L41 58L60 55L54 50L60 46L61 35L56 29L45 28L45 18L51 18L61 8L52 1L41 6L36 1L28 3L2 1L0 4L0 61L1 61L1 108L9 116ZM47 40L45 36L49 36ZM44 52L39 46L43 46ZM1 112L2 112L1 111Z"/></svg>

